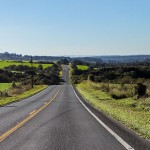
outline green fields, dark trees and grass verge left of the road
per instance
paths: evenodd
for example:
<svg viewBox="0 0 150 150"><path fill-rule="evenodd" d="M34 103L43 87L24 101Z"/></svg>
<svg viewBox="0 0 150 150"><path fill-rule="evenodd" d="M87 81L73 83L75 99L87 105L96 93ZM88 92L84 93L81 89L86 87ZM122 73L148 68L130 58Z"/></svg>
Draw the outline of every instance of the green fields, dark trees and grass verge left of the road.
<svg viewBox="0 0 150 150"><path fill-rule="evenodd" d="M14 64L15 61L1 61L0 105L31 96L48 85L61 81L61 63L36 62ZM36 67L35 67L36 66ZM45 67L43 67L45 66Z"/></svg>

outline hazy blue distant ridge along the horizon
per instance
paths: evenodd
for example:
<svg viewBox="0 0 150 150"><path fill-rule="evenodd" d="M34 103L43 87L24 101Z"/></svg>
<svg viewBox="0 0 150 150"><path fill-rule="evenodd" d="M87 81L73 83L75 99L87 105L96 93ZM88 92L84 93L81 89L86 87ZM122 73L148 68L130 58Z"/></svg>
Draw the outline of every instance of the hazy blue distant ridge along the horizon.
<svg viewBox="0 0 150 150"><path fill-rule="evenodd" d="M68 55L68 56L32 56L33 60L39 61L59 61L61 59L68 60L81 60L86 62L150 62L150 55L103 55L103 56L79 56L79 55ZM21 55L16 53L0 53L1 60L30 60L31 55Z"/></svg>

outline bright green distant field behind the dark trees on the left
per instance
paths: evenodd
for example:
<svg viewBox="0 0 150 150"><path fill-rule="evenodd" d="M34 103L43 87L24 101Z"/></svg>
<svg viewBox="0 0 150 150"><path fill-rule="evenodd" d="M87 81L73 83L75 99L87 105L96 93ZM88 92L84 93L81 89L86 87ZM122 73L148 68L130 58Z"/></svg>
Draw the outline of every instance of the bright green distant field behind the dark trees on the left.
<svg viewBox="0 0 150 150"><path fill-rule="evenodd" d="M10 65L24 65L24 66L31 66L31 64L27 61L23 61L23 62L16 62L16 61L0 61L0 68L3 69L4 67L8 67ZM52 66L52 64L41 64L43 66L43 69ZM34 67L38 67L39 64L37 63L33 63Z"/></svg>

